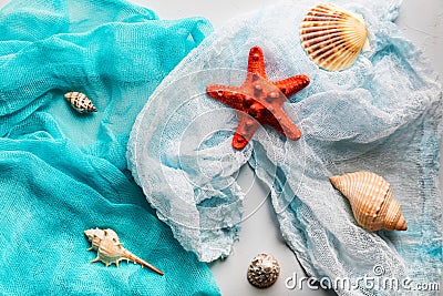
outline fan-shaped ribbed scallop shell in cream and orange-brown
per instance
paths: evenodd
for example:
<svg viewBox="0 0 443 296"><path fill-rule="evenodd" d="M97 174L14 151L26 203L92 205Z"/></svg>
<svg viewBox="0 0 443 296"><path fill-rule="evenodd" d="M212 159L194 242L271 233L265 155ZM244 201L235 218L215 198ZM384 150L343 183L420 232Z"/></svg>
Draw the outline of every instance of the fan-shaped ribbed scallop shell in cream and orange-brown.
<svg viewBox="0 0 443 296"><path fill-rule="evenodd" d="M300 39L309 58L329 71L350 67L369 44L363 18L331 3L318 4L306 13Z"/></svg>

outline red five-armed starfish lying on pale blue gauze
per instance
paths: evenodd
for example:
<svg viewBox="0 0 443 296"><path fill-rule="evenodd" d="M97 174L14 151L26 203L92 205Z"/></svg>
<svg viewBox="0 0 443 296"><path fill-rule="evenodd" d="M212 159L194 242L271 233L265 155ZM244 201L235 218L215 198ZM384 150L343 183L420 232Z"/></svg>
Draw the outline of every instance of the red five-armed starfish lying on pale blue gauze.
<svg viewBox="0 0 443 296"><path fill-rule="evenodd" d="M249 51L248 73L240 86L210 84L206 88L206 93L237 110L238 126L234 134L233 147L243 150L260 124L272 126L290 140L300 139L300 130L288 118L281 105L308 84L309 78L306 75L269 81L262 50L254 47Z"/></svg>

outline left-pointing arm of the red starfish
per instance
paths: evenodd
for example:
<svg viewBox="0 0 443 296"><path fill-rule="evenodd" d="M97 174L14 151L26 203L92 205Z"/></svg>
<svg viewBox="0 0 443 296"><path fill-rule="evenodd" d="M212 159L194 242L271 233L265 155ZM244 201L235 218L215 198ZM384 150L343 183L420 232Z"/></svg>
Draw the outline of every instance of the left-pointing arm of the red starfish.
<svg viewBox="0 0 443 296"><path fill-rule="evenodd" d="M206 86L206 93L236 110L244 110L245 94L237 86L226 86L220 84L210 84Z"/></svg>

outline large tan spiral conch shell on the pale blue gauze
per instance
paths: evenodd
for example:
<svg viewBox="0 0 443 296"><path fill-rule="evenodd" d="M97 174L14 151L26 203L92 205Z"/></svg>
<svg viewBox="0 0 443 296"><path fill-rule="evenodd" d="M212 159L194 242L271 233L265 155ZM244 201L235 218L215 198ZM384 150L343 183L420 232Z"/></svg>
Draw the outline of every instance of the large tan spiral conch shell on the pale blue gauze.
<svg viewBox="0 0 443 296"><path fill-rule="evenodd" d="M383 177L371 172L356 172L331 176L330 181L349 200L363 228L371 232L408 229L400 204L392 198L390 185Z"/></svg>

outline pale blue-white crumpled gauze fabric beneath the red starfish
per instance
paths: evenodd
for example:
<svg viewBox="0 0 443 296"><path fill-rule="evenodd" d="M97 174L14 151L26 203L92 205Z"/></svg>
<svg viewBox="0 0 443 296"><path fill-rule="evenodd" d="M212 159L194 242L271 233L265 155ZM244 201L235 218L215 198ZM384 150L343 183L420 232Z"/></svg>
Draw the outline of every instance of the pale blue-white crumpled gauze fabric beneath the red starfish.
<svg viewBox="0 0 443 296"><path fill-rule="evenodd" d="M210 262L239 236L244 196L236 176L249 163L270 188L282 236L306 272L354 280L340 295L390 295L361 277L439 282L442 271L439 141L442 91L422 54L392 22L400 1L334 1L361 14L371 49L340 72L319 69L298 30L319 1L282 2L235 19L206 39L162 82L138 115L128 164L147 200L186 249ZM231 147L236 111L206 85L240 85L249 49L265 52L277 81L307 74L310 85L284 104L302 137L260 127L243 151ZM406 232L370 233L329 176L371 171L390 184ZM380 278L380 277L377 277ZM406 283L406 284L408 284ZM408 289L408 286L404 287Z"/></svg>

